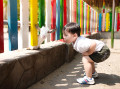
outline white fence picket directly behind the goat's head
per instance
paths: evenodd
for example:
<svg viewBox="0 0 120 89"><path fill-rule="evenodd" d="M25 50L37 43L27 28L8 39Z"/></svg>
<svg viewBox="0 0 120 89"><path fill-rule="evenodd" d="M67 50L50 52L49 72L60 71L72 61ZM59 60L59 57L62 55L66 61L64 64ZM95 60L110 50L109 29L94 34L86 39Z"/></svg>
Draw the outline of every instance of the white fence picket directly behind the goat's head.
<svg viewBox="0 0 120 89"><path fill-rule="evenodd" d="M51 0L45 0L46 1L46 13L45 13L45 24L46 27L51 29ZM47 39L45 40L45 43L50 42L50 34L48 34Z"/></svg>

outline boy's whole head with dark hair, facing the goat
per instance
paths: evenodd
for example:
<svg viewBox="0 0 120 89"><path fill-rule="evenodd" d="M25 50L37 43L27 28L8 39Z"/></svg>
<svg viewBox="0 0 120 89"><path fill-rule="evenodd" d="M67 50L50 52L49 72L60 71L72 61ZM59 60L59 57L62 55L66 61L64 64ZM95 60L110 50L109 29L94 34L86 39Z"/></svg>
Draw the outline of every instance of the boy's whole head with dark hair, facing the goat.
<svg viewBox="0 0 120 89"><path fill-rule="evenodd" d="M80 36L80 26L77 23L71 22L63 27L63 39L67 43L75 42Z"/></svg>

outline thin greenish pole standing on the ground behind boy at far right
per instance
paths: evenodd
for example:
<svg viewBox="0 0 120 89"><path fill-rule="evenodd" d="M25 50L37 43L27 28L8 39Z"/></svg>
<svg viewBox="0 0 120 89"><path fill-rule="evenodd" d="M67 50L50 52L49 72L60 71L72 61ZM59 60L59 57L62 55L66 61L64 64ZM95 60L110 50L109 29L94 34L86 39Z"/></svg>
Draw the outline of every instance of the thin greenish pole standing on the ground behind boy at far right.
<svg viewBox="0 0 120 89"><path fill-rule="evenodd" d="M112 7L111 48L114 47L114 18L115 18L115 0L113 0L113 7Z"/></svg>

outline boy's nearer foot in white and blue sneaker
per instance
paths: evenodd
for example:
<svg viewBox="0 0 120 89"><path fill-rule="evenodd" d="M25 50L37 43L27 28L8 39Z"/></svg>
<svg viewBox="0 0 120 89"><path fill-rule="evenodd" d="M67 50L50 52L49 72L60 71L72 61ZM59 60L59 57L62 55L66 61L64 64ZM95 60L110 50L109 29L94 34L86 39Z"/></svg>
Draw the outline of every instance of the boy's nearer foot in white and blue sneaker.
<svg viewBox="0 0 120 89"><path fill-rule="evenodd" d="M83 78L78 78L77 82L80 84L95 84L94 78L89 79L87 76L84 76Z"/></svg>

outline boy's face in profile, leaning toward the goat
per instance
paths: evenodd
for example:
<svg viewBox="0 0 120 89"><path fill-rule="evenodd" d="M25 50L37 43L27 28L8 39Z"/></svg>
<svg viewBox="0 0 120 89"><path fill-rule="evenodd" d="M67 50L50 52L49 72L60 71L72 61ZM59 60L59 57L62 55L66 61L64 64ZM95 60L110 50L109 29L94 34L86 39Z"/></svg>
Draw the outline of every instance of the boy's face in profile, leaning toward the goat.
<svg viewBox="0 0 120 89"><path fill-rule="evenodd" d="M63 31L63 39L66 43L74 43L77 39L77 34L72 34L67 30Z"/></svg>

